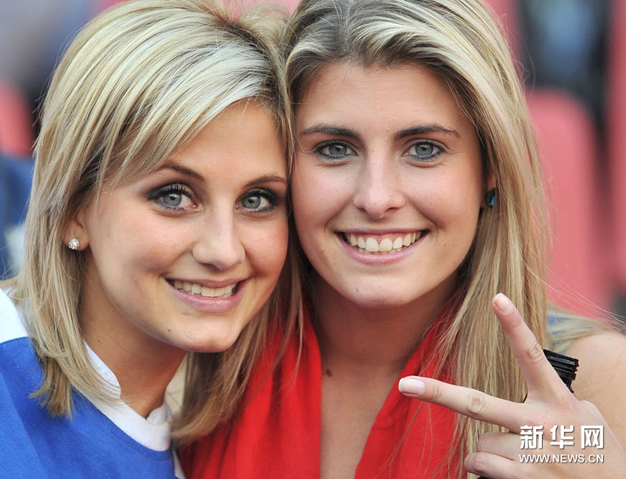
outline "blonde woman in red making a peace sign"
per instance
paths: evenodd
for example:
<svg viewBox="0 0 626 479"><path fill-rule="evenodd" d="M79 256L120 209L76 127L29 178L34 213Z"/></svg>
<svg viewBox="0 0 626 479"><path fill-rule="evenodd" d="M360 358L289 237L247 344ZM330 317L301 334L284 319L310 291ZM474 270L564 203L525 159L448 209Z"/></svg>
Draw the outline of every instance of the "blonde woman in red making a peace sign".
<svg viewBox="0 0 626 479"><path fill-rule="evenodd" d="M303 336L280 368L259 362L235 421L185 451L188 476L623 477L626 340L549 312L540 158L490 12L303 0L284 48ZM579 358L575 395L539 344ZM543 449L522 448L523 426ZM584 448L583 426L604 448Z"/></svg>

